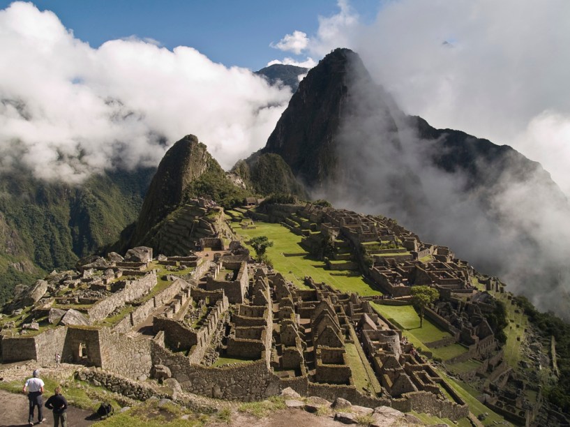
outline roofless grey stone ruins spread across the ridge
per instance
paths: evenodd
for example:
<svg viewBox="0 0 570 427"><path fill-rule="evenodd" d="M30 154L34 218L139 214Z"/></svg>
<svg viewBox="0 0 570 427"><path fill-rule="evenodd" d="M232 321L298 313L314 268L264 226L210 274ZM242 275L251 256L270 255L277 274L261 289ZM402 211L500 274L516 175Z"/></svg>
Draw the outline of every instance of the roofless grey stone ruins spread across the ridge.
<svg viewBox="0 0 570 427"><path fill-rule="evenodd" d="M294 219L284 223L299 228L303 246L332 242L329 267L368 268L391 297L406 297L413 285L436 287L446 302L426 317L469 347L469 357L486 358L493 368L502 364L481 316L486 302L452 298L473 292L475 272L448 248L422 244L391 220L350 211L308 205L285 218ZM255 264L239 244L229 248L216 248L221 253L215 257L185 251L156 259L151 248L133 248L125 257L91 257L77 271L54 273L15 301L20 310L29 306L24 301L33 304L22 317L31 316L39 327L31 333L7 328L0 341L2 361L49 364L59 352L63 361L133 379L170 376L183 390L216 398L255 400L292 387L362 405L437 408L450 419L467 415L463 399L373 310L369 298L310 278L308 289L299 289ZM367 255L373 257L371 267L363 262ZM354 384L349 348L368 366L365 389ZM490 405L500 400L496 393L489 396Z"/></svg>

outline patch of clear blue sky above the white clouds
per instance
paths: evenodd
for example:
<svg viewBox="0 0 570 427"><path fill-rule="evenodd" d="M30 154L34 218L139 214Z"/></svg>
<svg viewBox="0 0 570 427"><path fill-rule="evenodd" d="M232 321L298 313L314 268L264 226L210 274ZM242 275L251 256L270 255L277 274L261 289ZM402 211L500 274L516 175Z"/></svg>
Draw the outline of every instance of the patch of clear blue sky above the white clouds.
<svg viewBox="0 0 570 427"><path fill-rule="evenodd" d="M1 0L0 8L12 1ZM76 38L98 47L107 40L152 38L172 50L194 47L214 62L258 70L282 52L269 47L294 30L310 36L318 16L338 13L335 0L36 0L52 10ZM363 22L370 21L379 0L354 1ZM295 57L294 54L288 54Z"/></svg>

